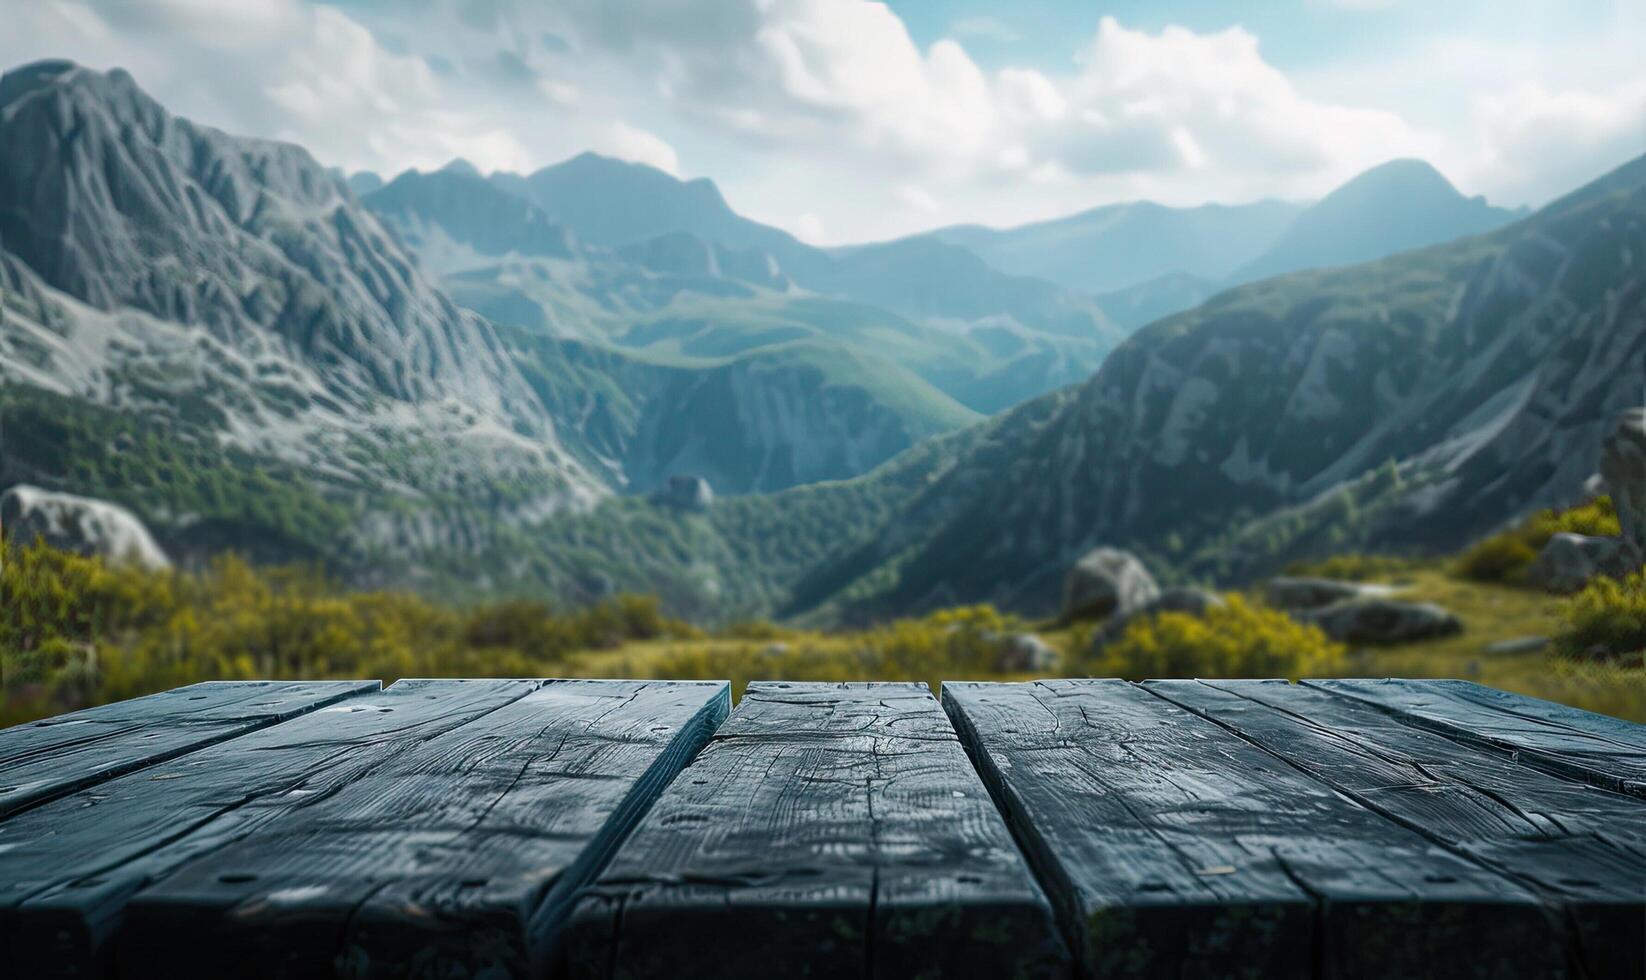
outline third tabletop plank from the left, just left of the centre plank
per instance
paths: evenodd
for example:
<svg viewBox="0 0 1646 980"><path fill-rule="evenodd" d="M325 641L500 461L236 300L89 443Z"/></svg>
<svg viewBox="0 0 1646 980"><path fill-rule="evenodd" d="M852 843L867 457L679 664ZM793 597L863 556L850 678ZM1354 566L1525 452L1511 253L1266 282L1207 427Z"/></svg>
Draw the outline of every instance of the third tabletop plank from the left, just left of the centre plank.
<svg viewBox="0 0 1646 980"><path fill-rule="evenodd" d="M729 707L724 682L546 682L138 893L120 975L542 973L573 891Z"/></svg>

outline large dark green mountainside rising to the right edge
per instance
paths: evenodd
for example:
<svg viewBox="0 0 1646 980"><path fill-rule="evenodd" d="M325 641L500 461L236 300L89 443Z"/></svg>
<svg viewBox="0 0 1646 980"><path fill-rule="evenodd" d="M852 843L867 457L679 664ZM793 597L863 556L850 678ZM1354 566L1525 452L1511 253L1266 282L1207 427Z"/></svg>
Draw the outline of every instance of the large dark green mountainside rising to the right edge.
<svg viewBox="0 0 1646 980"><path fill-rule="evenodd" d="M1646 377L1646 158L1485 236L1230 290L1139 331L983 463L956 461L790 613L1044 613L1085 550L1241 580L1455 548L1583 492ZM1032 432L1030 432L1032 428Z"/></svg>

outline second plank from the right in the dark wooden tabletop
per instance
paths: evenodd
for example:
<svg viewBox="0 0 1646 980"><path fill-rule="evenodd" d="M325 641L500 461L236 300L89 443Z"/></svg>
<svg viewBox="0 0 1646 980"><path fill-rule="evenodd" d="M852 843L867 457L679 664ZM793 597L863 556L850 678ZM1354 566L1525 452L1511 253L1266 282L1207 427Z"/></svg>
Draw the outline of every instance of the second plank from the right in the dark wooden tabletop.
<svg viewBox="0 0 1646 980"><path fill-rule="evenodd" d="M1646 802L1284 680L1146 687L1562 906L1577 975L1646 975Z"/></svg>

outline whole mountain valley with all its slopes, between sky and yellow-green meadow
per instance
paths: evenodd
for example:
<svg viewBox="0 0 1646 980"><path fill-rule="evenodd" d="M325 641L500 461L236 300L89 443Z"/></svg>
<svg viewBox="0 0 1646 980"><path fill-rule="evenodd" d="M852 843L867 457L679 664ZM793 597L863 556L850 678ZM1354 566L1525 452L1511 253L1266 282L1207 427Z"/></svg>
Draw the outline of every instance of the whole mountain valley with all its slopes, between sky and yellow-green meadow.
<svg viewBox="0 0 1646 980"><path fill-rule="evenodd" d="M1646 374L1643 161L1531 216L1394 161L1312 204L818 249L593 153L344 180L69 63L0 105L0 483L184 562L1039 616L1096 545L1231 585L1458 550L1579 501Z"/></svg>

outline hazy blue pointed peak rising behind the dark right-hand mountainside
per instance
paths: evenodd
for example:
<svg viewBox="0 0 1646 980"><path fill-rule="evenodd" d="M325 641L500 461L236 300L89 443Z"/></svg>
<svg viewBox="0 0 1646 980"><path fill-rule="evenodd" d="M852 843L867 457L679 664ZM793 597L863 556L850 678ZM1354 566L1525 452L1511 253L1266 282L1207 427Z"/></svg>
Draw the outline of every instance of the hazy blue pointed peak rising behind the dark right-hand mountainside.
<svg viewBox="0 0 1646 980"><path fill-rule="evenodd" d="M1422 160L1391 160L1309 206L1269 249L1236 268L1253 282L1300 268L1353 265L1501 227L1523 214L1465 198Z"/></svg>

